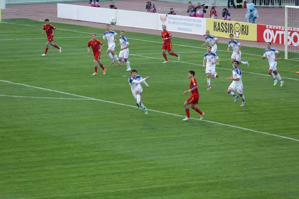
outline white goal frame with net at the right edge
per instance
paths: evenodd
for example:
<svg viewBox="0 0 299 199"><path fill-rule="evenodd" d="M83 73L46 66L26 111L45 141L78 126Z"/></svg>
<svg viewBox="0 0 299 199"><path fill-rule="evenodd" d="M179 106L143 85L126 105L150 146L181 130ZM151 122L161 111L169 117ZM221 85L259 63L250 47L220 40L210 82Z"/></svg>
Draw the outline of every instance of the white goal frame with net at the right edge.
<svg viewBox="0 0 299 199"><path fill-rule="evenodd" d="M299 60L299 6L285 6L284 40L285 59Z"/></svg>

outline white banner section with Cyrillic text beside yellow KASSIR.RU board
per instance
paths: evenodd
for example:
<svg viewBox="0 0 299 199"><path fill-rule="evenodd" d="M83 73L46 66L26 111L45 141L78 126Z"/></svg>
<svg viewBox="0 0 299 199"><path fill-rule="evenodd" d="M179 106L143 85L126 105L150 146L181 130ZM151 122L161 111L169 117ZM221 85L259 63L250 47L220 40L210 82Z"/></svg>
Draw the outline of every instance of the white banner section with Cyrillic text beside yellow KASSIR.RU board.
<svg viewBox="0 0 299 199"><path fill-rule="evenodd" d="M170 14L158 14L158 29L162 30L162 25L166 25L167 30L173 32L184 32L204 35L206 29L206 19L200 17L179 16Z"/></svg>

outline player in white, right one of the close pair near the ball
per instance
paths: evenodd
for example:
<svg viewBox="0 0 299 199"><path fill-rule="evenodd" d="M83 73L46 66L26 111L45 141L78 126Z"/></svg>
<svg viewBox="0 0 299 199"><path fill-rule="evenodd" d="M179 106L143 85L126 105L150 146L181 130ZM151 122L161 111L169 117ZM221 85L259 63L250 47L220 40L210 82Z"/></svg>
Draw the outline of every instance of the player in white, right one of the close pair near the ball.
<svg viewBox="0 0 299 199"><path fill-rule="evenodd" d="M122 62L125 62L127 65L127 71L131 71L130 62L128 61L130 44L128 38L125 36L124 30L121 31L120 43L117 45L117 47L119 46L121 46L121 52L117 65L119 66Z"/></svg>

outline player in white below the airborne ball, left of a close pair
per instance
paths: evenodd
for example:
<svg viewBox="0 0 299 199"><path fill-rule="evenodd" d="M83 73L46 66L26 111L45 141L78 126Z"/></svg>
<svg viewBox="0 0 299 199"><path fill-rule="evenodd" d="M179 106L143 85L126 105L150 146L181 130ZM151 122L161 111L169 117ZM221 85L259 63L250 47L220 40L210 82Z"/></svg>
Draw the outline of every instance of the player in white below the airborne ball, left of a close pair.
<svg viewBox="0 0 299 199"><path fill-rule="evenodd" d="M103 35L103 39L108 41L108 49L107 49L107 54L111 59L111 64L114 63L115 60L117 60L117 62L119 62L117 55L115 54L115 42L116 42L116 38L114 39L114 37L118 37L118 34L116 32L114 32L113 30L110 30L110 25L106 25L106 32L104 32ZM114 58L114 59L113 59Z"/></svg>

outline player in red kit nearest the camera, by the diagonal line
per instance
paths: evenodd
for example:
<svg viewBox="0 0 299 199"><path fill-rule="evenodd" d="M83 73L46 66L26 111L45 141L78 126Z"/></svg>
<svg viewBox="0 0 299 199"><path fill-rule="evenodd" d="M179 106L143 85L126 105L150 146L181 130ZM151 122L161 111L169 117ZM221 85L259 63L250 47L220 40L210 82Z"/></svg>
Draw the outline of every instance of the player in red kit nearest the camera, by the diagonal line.
<svg viewBox="0 0 299 199"><path fill-rule="evenodd" d="M189 110L189 107L188 107L189 104L191 104L192 109L194 109L196 112L198 112L200 114L200 119L203 119L203 116L204 116L204 112L201 112L199 110L199 108L196 107L196 105L195 105L195 104L198 104L199 93L198 93L198 90L197 90L197 82L196 82L194 76L195 76L195 72L194 71L189 71L188 78L191 79L190 89L188 91L185 91L184 95L191 93L191 96L184 102L184 107L185 107L185 111L187 113L187 117L185 119L183 119L183 121L187 121L187 120L191 119L190 110Z"/></svg>

